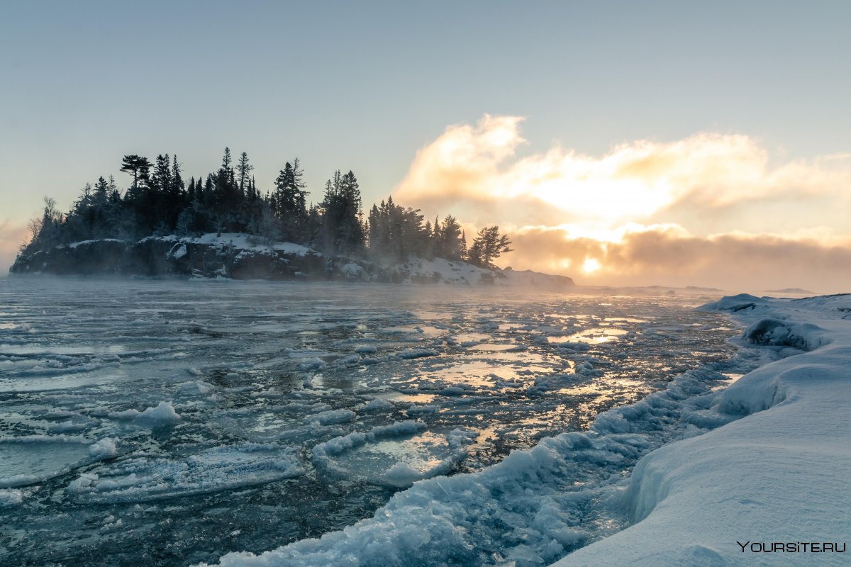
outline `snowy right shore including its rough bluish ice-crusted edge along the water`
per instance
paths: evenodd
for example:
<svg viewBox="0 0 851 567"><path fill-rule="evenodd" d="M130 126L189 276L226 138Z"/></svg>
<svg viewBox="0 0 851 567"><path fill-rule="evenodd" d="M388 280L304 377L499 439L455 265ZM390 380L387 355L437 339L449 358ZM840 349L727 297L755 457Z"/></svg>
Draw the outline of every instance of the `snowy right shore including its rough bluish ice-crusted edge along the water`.
<svg viewBox="0 0 851 567"><path fill-rule="evenodd" d="M228 553L220 565L482 564L483 548L494 550L485 564L516 566L791 565L802 553L844 563L851 296L740 295L702 309L734 314L748 328L732 340L763 359L728 388L705 391L706 377L687 372L603 412L590 431L543 439L479 473L420 481L372 519L260 555ZM667 439L654 436L665 427ZM575 477L582 462L631 457L627 479ZM628 527L603 527L581 547L589 534L574 516L595 507L620 511ZM508 531L474 545L483 524L491 536Z"/></svg>

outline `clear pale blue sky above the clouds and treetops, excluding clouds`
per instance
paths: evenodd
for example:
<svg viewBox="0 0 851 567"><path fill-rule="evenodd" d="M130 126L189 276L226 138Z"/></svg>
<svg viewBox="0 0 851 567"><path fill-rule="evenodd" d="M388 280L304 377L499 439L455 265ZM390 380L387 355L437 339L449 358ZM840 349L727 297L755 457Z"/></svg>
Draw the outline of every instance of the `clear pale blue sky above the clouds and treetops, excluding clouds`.
<svg viewBox="0 0 851 567"><path fill-rule="evenodd" d="M261 189L299 156L312 196L364 201L484 114L513 158L739 133L771 162L851 152L847 2L27 2L0 9L0 224L66 208L121 156L186 175L247 151ZM404 204L404 203L403 203ZM412 203L416 204L416 203ZM445 213L440 211L440 213ZM746 227L743 227L746 229Z"/></svg>

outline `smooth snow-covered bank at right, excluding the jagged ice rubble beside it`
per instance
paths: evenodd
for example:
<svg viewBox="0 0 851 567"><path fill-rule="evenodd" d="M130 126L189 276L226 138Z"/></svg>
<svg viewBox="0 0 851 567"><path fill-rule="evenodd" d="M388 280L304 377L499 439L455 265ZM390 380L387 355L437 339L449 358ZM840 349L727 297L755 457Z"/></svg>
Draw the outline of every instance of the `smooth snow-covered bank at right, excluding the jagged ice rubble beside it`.
<svg viewBox="0 0 851 567"><path fill-rule="evenodd" d="M751 341L808 352L722 393L719 409L745 417L645 456L624 502L636 524L557 567L848 564L851 296L742 295L705 309L750 324Z"/></svg>

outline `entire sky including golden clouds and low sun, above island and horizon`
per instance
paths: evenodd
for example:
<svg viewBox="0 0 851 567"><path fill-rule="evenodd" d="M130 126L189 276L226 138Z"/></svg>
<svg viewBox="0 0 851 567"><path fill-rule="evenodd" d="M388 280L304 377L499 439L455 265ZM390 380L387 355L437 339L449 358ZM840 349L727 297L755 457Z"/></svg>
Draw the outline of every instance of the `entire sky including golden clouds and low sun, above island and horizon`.
<svg viewBox="0 0 851 567"><path fill-rule="evenodd" d="M121 157L353 170L503 267L849 291L848 2L0 6L0 272Z"/></svg>

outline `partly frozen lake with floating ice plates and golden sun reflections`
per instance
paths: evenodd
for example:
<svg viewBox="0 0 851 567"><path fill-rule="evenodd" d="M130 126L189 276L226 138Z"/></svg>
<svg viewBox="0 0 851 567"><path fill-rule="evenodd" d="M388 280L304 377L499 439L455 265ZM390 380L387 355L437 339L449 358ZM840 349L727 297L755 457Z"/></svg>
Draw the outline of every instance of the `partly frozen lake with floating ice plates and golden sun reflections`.
<svg viewBox="0 0 851 567"><path fill-rule="evenodd" d="M734 359L727 319L694 311L711 299L0 280L0 563L260 553L585 430L688 372L683 395L709 393L757 364ZM678 415L647 427L647 449L688 430ZM583 462L559 490L611 483L638 456ZM582 506L556 555L623 524Z"/></svg>

